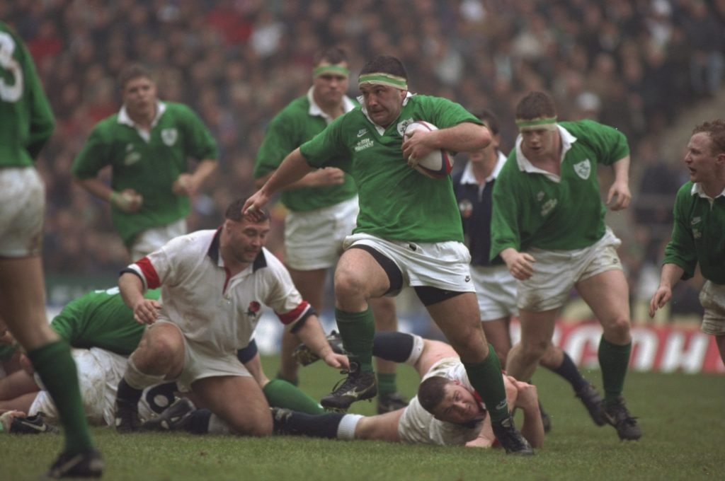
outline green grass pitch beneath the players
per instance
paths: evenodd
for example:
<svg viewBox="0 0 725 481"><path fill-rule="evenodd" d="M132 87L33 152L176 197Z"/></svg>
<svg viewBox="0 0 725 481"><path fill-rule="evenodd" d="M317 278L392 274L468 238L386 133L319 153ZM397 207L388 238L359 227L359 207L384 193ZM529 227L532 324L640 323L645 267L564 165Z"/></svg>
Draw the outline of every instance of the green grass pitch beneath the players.
<svg viewBox="0 0 725 481"><path fill-rule="evenodd" d="M264 359L268 374L276 359ZM301 385L320 397L339 379L315 364ZM599 372L586 373L600 385ZM500 449L404 446L311 438L234 438L186 434L117 435L94 428L106 459L104 480L725 480L725 377L631 373L626 397L642 440L623 443L597 427L571 388L540 369L539 394L552 432L537 456ZM399 388L412 395L413 369L399 369ZM351 411L373 414L374 404ZM519 424L521 419L518 419ZM0 480L36 480L57 455L55 435L0 435Z"/></svg>

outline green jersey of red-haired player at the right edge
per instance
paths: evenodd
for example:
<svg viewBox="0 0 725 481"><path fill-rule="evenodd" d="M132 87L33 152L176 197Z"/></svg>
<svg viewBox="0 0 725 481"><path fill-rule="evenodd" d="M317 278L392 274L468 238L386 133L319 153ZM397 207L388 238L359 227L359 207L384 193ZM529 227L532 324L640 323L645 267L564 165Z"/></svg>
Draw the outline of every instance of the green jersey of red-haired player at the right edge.
<svg viewBox="0 0 725 481"><path fill-rule="evenodd" d="M703 198L698 191L688 182L677 192L672 238L662 263L682 267L683 279L700 264L705 279L725 284L725 196Z"/></svg>

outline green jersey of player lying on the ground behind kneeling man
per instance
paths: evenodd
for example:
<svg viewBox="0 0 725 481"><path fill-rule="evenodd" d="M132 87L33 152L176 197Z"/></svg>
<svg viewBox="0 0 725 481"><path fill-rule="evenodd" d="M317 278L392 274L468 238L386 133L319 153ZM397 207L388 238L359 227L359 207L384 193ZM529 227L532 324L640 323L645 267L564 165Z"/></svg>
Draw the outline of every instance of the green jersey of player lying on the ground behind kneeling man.
<svg viewBox="0 0 725 481"><path fill-rule="evenodd" d="M149 289L147 299L158 299L159 289ZM102 348L128 356L138 347L145 325L133 319L118 288L93 290L70 301L51 322L51 328L74 348Z"/></svg>

